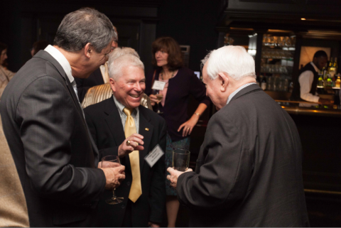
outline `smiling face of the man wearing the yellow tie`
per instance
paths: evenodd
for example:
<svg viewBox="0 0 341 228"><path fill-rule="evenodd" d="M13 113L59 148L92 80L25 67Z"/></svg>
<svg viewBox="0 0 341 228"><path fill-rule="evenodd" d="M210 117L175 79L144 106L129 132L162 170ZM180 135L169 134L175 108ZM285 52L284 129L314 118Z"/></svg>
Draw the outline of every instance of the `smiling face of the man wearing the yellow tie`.
<svg viewBox="0 0 341 228"><path fill-rule="evenodd" d="M135 66L124 66L117 81L110 78L110 85L116 99L129 109L139 107L146 89L144 70Z"/></svg>

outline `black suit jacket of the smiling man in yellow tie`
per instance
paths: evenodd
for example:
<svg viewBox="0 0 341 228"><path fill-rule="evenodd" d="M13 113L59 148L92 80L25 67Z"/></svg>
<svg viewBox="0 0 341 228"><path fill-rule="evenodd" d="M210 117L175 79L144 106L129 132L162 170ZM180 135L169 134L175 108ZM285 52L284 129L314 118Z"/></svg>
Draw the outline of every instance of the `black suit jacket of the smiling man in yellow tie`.
<svg viewBox="0 0 341 228"><path fill-rule="evenodd" d="M100 157L117 155L118 146L124 141L124 128L113 97L85 109L87 124L99 148ZM148 129L148 131L146 130ZM148 222L162 222L166 204L165 158L151 168L144 157L159 144L166 151L166 121L145 107L139 107L139 134L144 136L144 151L140 151L142 195L131 205L133 227L147 227ZM124 197L118 205L108 205L104 199L112 197L112 191L105 191L99 202L99 227L121 227L131 185L129 156L121 158L126 166L126 178L117 188L116 195Z"/></svg>

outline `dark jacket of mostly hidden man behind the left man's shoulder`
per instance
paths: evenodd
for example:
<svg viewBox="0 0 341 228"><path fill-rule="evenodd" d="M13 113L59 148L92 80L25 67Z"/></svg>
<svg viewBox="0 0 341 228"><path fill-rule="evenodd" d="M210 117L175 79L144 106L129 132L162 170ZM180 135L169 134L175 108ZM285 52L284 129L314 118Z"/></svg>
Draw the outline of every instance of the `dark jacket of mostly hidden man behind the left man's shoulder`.
<svg viewBox="0 0 341 228"><path fill-rule="evenodd" d="M99 68L92 72L88 78L75 78L75 81L77 84L78 98L80 99L81 104L88 89L96 85L104 84L102 72Z"/></svg>

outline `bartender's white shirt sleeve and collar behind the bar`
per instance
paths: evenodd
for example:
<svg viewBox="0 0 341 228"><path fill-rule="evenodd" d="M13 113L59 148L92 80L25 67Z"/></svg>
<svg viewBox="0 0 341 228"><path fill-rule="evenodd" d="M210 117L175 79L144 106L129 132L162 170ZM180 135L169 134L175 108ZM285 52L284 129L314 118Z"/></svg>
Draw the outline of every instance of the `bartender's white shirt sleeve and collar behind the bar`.
<svg viewBox="0 0 341 228"><path fill-rule="evenodd" d="M313 65L316 72L318 72L318 67L315 66L313 62L310 62ZM313 84L314 80L314 73L311 70L305 70L301 73L298 77L298 82L300 82L301 87L301 99L304 99L307 102L315 102L318 103L318 99L320 97L316 96L315 94L310 94L311 85Z"/></svg>

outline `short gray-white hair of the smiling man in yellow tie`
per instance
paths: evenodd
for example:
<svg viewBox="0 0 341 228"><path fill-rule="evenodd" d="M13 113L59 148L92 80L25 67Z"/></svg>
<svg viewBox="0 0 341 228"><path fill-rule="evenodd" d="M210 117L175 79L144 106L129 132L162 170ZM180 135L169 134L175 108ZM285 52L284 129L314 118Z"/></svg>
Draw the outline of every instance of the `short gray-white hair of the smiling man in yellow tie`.
<svg viewBox="0 0 341 228"><path fill-rule="evenodd" d="M144 63L142 63L141 60L135 55L121 55L114 60L109 58L109 75L113 80L117 81L119 80L119 77L122 76L123 67L131 66L140 67L142 70L144 70Z"/></svg>

